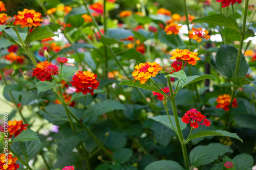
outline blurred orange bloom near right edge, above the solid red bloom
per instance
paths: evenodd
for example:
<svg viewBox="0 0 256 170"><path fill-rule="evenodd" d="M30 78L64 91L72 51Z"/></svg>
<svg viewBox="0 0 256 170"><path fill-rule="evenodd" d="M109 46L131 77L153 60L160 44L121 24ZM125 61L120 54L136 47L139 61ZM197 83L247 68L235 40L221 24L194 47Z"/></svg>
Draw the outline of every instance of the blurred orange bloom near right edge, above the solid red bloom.
<svg viewBox="0 0 256 170"><path fill-rule="evenodd" d="M218 105L216 106L216 108L221 108L221 109L224 109L225 111L229 110L229 104L231 101L231 97L229 94L219 95L216 101L218 102ZM232 107L238 107L236 98L233 99Z"/></svg>

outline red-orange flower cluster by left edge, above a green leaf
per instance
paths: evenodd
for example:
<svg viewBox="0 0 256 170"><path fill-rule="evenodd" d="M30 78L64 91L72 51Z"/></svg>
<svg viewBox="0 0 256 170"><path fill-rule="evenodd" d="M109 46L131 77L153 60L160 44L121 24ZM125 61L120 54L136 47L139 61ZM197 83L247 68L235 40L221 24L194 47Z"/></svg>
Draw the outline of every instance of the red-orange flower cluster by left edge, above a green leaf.
<svg viewBox="0 0 256 170"><path fill-rule="evenodd" d="M22 133L23 130L26 130L26 126L25 124L23 124L22 120L17 121L16 119L11 121L8 121L8 132L10 133L10 138L14 135L14 137L18 136L18 134Z"/></svg>

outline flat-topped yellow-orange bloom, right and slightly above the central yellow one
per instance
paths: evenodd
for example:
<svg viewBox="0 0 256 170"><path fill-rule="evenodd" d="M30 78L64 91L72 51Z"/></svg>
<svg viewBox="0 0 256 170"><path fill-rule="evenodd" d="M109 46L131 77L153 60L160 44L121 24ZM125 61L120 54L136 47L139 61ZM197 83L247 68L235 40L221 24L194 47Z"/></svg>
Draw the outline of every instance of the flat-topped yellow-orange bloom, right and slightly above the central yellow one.
<svg viewBox="0 0 256 170"><path fill-rule="evenodd" d="M170 57L171 60L183 60L187 61L188 64L196 65L196 61L201 60L201 58L197 57L198 53L190 52L189 50L179 50L175 49L174 52L170 53L172 57Z"/></svg>

